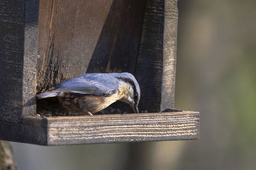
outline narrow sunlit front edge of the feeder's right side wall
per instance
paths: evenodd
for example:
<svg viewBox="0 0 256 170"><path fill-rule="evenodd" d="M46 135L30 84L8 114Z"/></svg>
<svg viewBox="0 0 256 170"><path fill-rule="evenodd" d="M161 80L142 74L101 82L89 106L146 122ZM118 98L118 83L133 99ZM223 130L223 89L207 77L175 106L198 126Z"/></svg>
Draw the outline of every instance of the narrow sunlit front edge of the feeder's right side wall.
<svg viewBox="0 0 256 170"><path fill-rule="evenodd" d="M174 108L177 27L177 0L166 0L164 1L163 72L160 110Z"/></svg>

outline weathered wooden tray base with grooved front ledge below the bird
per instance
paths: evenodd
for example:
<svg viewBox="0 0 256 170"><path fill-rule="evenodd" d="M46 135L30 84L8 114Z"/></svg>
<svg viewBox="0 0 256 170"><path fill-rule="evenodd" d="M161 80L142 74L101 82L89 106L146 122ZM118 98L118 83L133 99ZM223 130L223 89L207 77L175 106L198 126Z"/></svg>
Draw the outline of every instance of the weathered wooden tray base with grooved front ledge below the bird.
<svg viewBox="0 0 256 170"><path fill-rule="evenodd" d="M4 136L8 133L3 130L5 126L1 124L1 139L39 145L198 139L199 113L181 111L93 117L24 117L22 131L11 139L10 135ZM13 134L15 126L8 128Z"/></svg>

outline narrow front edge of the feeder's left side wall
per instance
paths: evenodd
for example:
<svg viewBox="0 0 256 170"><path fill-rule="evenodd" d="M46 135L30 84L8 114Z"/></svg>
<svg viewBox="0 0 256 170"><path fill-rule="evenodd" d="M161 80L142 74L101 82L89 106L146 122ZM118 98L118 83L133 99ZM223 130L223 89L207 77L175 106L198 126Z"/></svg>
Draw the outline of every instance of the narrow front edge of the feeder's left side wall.
<svg viewBox="0 0 256 170"><path fill-rule="evenodd" d="M22 73L22 116L36 115L38 10L39 0L26 0Z"/></svg>

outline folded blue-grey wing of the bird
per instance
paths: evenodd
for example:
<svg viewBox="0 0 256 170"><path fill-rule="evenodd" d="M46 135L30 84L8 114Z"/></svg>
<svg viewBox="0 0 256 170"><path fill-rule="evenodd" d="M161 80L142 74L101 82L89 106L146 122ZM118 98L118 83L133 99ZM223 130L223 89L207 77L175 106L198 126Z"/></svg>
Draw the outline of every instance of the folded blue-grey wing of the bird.
<svg viewBox="0 0 256 170"><path fill-rule="evenodd" d="M112 96L118 90L118 83L111 74L83 74L77 78L63 81L56 85L54 92L75 94L93 94L95 96Z"/></svg>

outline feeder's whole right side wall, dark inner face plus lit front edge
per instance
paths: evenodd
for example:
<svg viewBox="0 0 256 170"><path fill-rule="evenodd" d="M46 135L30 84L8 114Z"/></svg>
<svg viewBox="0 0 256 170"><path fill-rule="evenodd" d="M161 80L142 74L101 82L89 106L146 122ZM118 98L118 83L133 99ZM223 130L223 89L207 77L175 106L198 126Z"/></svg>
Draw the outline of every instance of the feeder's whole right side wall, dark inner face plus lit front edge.
<svg viewBox="0 0 256 170"><path fill-rule="evenodd" d="M177 20L177 0L147 1L135 73L142 94L140 110L173 108Z"/></svg>

